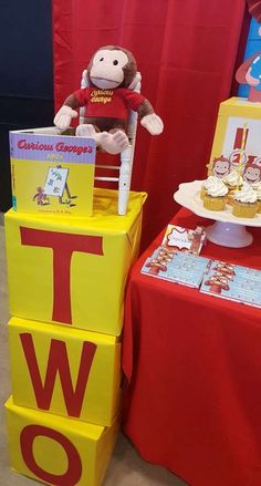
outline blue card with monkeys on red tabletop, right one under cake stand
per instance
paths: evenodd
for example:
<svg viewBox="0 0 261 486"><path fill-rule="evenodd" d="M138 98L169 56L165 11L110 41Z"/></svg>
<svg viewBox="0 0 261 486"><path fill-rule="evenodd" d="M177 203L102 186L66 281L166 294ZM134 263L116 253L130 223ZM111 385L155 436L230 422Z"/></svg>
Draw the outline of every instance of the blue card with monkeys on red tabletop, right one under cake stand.
<svg viewBox="0 0 261 486"><path fill-rule="evenodd" d="M200 292L261 308L261 271L213 260Z"/></svg>

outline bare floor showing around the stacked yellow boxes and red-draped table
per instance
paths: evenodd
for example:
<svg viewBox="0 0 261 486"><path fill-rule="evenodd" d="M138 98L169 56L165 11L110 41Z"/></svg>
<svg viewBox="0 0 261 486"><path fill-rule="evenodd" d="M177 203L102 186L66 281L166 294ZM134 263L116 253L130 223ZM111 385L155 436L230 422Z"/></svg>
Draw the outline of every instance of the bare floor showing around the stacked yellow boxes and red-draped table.
<svg viewBox="0 0 261 486"><path fill-rule="evenodd" d="M6 276L3 218L0 215L0 485L33 486L40 485L32 479L12 473L9 467L6 438L6 421L3 404L11 394L8 355L7 322L8 288ZM186 486L184 482L168 471L145 463L129 441L119 434L114 455L109 463L103 486Z"/></svg>

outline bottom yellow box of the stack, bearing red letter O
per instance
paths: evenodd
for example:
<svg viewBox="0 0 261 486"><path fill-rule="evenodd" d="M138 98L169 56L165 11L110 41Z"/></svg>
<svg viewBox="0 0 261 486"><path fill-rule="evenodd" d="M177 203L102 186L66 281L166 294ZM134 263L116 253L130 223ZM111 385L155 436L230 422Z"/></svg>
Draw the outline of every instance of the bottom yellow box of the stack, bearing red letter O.
<svg viewBox="0 0 261 486"><path fill-rule="evenodd" d="M117 438L118 423L103 427L6 404L11 467L60 486L100 486Z"/></svg>

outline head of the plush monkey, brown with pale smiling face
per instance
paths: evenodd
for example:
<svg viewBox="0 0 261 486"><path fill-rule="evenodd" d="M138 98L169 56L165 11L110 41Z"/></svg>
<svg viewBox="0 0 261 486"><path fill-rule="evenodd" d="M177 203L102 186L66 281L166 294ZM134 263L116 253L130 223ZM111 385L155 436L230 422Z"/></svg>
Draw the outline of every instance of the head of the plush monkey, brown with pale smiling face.
<svg viewBox="0 0 261 486"><path fill-rule="evenodd" d="M127 87L135 73L134 58L121 48L100 49L88 65L90 80L100 90L113 90L119 85Z"/></svg>

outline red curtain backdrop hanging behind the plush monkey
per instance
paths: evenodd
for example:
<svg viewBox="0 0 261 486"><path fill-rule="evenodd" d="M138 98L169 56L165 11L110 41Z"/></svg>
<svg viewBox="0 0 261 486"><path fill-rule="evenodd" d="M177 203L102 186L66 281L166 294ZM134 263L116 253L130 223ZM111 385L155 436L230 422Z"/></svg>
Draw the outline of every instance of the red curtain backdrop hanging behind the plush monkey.
<svg viewBox="0 0 261 486"><path fill-rule="evenodd" d="M55 108L101 45L129 49L165 123L138 127L132 188L149 194L143 246L178 209L178 184L206 175L219 103L230 96L244 0L53 0Z"/></svg>

